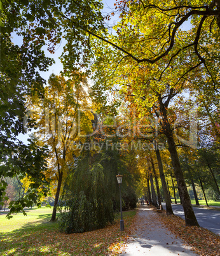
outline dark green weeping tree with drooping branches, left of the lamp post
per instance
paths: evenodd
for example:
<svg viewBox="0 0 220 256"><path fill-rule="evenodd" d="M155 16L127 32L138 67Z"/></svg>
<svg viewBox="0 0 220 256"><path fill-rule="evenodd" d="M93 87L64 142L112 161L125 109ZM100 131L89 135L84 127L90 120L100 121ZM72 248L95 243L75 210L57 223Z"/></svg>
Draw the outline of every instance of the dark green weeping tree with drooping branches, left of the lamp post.
<svg viewBox="0 0 220 256"><path fill-rule="evenodd" d="M102 161L102 154L91 156L90 152L78 160L78 166L65 183L60 201L61 231L86 232L113 223L111 192L114 189L109 188L116 185L114 179L109 180L109 172L102 166Z"/></svg>

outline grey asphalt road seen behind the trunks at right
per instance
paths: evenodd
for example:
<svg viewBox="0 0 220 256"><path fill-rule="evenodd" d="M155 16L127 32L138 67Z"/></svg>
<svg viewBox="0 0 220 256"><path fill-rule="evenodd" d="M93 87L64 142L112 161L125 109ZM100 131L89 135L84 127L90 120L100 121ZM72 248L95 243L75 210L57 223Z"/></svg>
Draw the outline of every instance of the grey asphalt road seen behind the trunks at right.
<svg viewBox="0 0 220 256"><path fill-rule="evenodd" d="M163 208L165 209L165 203L163 203ZM172 209L174 214L181 217L184 217L184 211L181 204L172 204ZM209 210L199 207L193 207L193 210L196 215L198 224L205 229L220 235L220 211Z"/></svg>

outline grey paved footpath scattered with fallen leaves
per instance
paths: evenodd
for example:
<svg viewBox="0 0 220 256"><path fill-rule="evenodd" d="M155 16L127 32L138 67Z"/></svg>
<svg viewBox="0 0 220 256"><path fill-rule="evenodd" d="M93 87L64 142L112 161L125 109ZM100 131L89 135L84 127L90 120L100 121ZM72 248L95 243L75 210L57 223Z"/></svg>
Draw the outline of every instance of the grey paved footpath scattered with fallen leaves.
<svg viewBox="0 0 220 256"><path fill-rule="evenodd" d="M130 235L125 251L121 254L154 256L196 256L183 241L176 238L168 229L158 222L156 213L148 206L141 206L137 211L134 234Z"/></svg>

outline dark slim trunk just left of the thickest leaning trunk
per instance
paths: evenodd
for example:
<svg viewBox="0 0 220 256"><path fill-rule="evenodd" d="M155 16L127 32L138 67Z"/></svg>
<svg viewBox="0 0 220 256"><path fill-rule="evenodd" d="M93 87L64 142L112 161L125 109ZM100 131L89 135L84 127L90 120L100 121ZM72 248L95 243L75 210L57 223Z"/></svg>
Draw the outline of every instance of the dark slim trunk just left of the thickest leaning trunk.
<svg viewBox="0 0 220 256"><path fill-rule="evenodd" d="M166 202L167 215L172 215L174 213L172 210L170 197L169 197L168 190L167 190L167 183L166 183L165 176L163 173L163 164L162 164L162 159L160 157L160 150L159 150L158 146L156 146L156 145L155 145L155 153L156 153L156 159L158 161L158 168L160 171L160 180L162 182L163 194L164 194L165 202Z"/></svg>

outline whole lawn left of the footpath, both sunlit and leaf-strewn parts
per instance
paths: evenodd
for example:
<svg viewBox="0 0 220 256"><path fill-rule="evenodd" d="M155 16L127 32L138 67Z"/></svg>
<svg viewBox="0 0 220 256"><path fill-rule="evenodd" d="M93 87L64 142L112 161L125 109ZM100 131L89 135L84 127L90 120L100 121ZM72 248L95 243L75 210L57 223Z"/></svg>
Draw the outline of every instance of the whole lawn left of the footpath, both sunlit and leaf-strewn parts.
<svg viewBox="0 0 220 256"><path fill-rule="evenodd" d="M0 215L0 255L118 255L135 213L123 212L124 232L120 232L117 215L113 225L81 234L60 233L58 223L49 222L50 208L34 208L27 216L19 213L11 220Z"/></svg>

